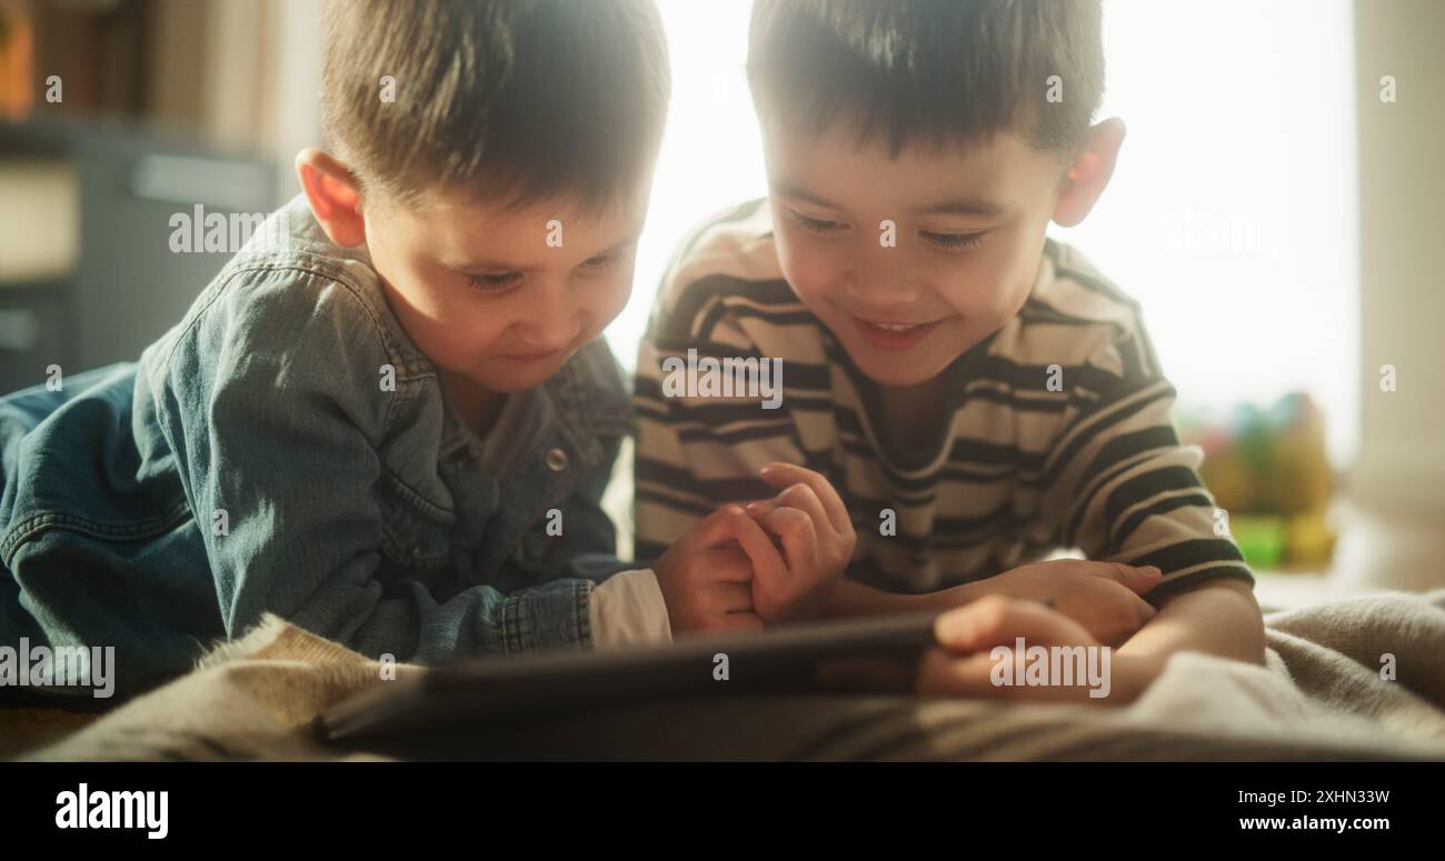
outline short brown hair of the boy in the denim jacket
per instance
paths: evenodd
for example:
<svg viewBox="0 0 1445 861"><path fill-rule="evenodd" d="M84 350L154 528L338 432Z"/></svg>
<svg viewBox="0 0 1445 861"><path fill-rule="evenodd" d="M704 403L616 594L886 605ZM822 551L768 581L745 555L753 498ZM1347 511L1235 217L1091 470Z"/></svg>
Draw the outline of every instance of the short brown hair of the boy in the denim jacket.
<svg viewBox="0 0 1445 861"><path fill-rule="evenodd" d="M367 194L592 209L657 155L670 74L652 0L329 0L322 39L322 127Z"/></svg>

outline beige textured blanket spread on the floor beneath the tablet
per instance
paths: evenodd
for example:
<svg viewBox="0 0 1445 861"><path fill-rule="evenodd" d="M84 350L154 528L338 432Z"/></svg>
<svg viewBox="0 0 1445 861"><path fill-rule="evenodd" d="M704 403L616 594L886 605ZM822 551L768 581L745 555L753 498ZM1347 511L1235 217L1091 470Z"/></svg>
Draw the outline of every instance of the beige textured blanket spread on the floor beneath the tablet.
<svg viewBox="0 0 1445 861"><path fill-rule="evenodd" d="M1136 704L1006 705L892 696L660 702L504 734L458 757L1220 760L1445 758L1445 589L1266 617L1267 666L1173 656ZM32 760L386 758L309 731L381 665L267 617L189 675L32 748ZM399 665L396 676L426 672ZM1393 675L1393 678L1390 678ZM0 712L0 735L33 728ZM51 725L55 732L55 725ZM12 745L14 741L12 740ZM442 751L448 756L448 751Z"/></svg>

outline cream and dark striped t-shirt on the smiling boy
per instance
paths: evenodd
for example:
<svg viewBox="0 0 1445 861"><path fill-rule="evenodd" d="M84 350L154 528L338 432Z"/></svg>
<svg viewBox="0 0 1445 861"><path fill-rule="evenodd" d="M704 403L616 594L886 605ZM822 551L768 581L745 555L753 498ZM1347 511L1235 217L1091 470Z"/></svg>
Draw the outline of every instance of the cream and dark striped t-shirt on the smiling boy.
<svg viewBox="0 0 1445 861"><path fill-rule="evenodd" d="M688 387L679 367L708 357L782 360L776 409L756 389L689 396L698 374ZM880 386L783 280L766 202L709 222L663 277L637 358L637 559L722 503L775 496L757 471L786 461L838 490L858 535L847 575L877 588L935 591L1064 549L1157 565L1156 601L1204 578L1253 582L1201 451L1175 433L1139 303L1078 251L1046 240L1019 313L944 373L942 439L900 446Z"/></svg>

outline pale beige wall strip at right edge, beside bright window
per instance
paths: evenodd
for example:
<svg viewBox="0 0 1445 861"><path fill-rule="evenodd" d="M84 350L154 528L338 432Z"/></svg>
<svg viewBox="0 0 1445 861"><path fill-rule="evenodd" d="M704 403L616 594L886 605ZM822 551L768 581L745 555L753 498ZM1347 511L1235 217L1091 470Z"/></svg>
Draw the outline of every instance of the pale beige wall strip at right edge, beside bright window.
<svg viewBox="0 0 1445 861"><path fill-rule="evenodd" d="M1371 509L1445 516L1445 3L1357 0L1355 33L1363 387L1350 490ZM1394 391L1380 389L1384 364Z"/></svg>

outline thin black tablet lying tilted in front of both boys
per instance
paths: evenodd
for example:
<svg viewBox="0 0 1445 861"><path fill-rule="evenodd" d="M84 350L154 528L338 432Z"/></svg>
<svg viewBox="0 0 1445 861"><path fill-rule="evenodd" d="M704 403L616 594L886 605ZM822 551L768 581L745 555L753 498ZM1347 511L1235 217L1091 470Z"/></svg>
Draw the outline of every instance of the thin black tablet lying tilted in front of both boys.
<svg viewBox="0 0 1445 861"><path fill-rule="evenodd" d="M936 613L801 623L662 646L467 657L380 683L316 721L331 741L507 724L659 699L824 691L907 693Z"/></svg>

